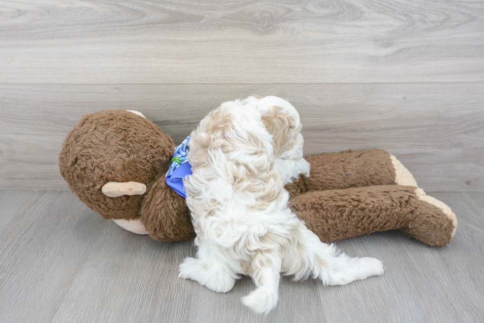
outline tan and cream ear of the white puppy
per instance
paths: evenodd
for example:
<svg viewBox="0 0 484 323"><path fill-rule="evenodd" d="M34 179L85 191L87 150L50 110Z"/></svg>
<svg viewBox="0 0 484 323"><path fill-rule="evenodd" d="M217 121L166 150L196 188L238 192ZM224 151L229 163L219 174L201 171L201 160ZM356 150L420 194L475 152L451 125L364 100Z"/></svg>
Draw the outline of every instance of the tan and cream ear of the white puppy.
<svg viewBox="0 0 484 323"><path fill-rule="evenodd" d="M281 107L272 106L262 115L262 122L273 137L274 156L279 156L289 137L293 136L294 120Z"/></svg>

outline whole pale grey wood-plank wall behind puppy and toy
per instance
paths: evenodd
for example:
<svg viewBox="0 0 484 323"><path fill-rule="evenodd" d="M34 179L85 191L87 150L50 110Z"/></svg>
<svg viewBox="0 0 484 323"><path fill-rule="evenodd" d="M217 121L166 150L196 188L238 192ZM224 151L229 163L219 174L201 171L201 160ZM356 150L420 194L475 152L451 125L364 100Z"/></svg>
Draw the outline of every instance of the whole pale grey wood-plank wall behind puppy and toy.
<svg viewBox="0 0 484 323"><path fill-rule="evenodd" d="M0 188L67 189L82 114L178 143L250 94L293 103L306 154L387 149L426 190L484 190L483 1L0 0Z"/></svg>

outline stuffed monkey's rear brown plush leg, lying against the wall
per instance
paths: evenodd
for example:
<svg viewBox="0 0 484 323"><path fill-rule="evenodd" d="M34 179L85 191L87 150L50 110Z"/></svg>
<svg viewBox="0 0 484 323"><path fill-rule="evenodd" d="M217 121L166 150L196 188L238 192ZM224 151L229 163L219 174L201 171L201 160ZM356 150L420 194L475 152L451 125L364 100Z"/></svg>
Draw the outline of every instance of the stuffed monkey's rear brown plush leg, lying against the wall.
<svg viewBox="0 0 484 323"><path fill-rule="evenodd" d="M417 186L412 174L385 150L323 153L306 160L311 164L310 176L301 176L286 186L292 196L312 190L373 185Z"/></svg>

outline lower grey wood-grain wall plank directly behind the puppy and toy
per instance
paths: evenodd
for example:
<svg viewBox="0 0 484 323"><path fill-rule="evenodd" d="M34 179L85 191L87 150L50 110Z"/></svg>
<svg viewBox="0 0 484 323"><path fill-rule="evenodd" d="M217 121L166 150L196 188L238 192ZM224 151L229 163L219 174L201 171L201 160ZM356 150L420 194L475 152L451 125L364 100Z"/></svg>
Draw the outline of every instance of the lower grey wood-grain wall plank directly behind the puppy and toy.
<svg viewBox="0 0 484 323"><path fill-rule="evenodd" d="M484 84L1 85L0 187L67 189L58 153L82 114L139 110L180 143L220 103L278 95L305 154L386 149L429 191L484 190Z"/></svg>

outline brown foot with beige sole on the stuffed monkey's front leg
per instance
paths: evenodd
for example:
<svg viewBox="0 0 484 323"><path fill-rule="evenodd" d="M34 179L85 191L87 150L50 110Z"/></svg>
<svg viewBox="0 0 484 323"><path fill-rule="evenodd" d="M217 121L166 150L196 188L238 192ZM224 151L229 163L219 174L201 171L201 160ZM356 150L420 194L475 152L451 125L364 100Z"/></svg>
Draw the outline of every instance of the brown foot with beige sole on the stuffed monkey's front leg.
<svg viewBox="0 0 484 323"><path fill-rule="evenodd" d="M418 215L404 230L415 239L431 246L447 245L457 229L457 218L450 208L421 188L415 189L419 200Z"/></svg>

